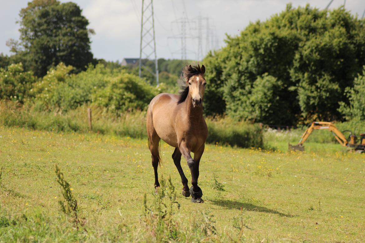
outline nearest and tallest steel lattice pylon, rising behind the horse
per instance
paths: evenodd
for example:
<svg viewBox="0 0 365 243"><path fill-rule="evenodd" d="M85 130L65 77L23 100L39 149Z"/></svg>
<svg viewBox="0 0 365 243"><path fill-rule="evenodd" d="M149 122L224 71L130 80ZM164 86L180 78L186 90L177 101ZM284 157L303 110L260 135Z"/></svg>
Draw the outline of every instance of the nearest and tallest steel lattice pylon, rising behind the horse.
<svg viewBox="0 0 365 243"><path fill-rule="evenodd" d="M158 66L155 40L155 21L153 17L153 0L142 0L141 44L139 46L139 77L142 75L142 56L146 59L149 59L153 55L155 58L155 75L158 86Z"/></svg>

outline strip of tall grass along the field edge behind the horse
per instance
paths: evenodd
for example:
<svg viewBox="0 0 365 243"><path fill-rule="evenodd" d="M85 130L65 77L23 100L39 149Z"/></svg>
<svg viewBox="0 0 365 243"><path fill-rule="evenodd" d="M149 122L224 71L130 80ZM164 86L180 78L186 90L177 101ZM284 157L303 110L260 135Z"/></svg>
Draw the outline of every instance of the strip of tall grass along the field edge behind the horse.
<svg viewBox="0 0 365 243"><path fill-rule="evenodd" d="M33 105L19 105L0 101L0 125L16 126L32 130L54 132L89 132L87 105L79 106L67 113L39 111ZM113 134L133 138L146 138L146 112L133 111L119 115L102 107L92 106L93 133ZM206 118L208 143L219 143L242 148L261 147L263 139L258 125L236 122L231 118Z"/></svg>

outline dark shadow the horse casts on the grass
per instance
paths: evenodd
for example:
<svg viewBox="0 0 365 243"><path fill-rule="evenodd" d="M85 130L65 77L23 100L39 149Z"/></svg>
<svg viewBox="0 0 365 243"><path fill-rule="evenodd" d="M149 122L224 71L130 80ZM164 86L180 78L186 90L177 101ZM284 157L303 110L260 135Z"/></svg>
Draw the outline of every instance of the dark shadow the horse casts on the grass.
<svg viewBox="0 0 365 243"><path fill-rule="evenodd" d="M265 212L265 213L274 213L279 216L283 217L294 217L294 215L286 214L278 212L274 209L269 209L261 206L256 206L251 203L241 203L238 201L230 201L230 200L210 200L213 204L218 205L220 207L225 207L229 209L245 209L247 211L254 211L254 212Z"/></svg>

